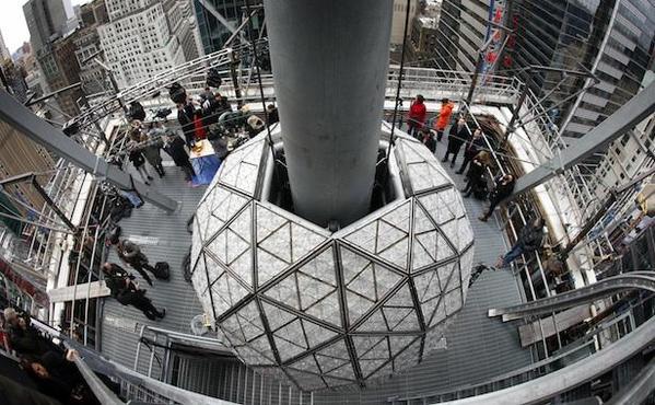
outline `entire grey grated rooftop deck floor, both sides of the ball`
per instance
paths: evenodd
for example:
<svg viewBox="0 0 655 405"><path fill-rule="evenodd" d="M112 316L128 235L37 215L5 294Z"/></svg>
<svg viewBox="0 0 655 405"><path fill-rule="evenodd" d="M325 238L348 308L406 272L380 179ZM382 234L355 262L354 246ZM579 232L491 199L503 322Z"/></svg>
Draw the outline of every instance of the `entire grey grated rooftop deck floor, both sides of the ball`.
<svg viewBox="0 0 655 405"><path fill-rule="evenodd" d="M445 140L442 140L437 146L440 160L445 144ZM149 287L136 274L140 285L148 288L148 296L153 303L157 308L166 308L166 317L161 322L149 321L139 311L122 306L115 300L104 300L101 350L108 358L128 367L133 367L142 325L190 334L191 319L202 313L192 286L183 278L180 266L191 243L186 222L194 213L204 187L189 187L179 170L171 164L166 166L166 176L155 178L153 186L180 201L180 209L167 215L152 205L145 205L133 210L130 218L120 221L125 236L137 240L147 236L140 244L151 263L165 261L172 269L171 280L155 280L154 287ZM448 166L446 170L463 187L464 176L454 174ZM475 263L493 264L506 248L499 224L495 220L484 223L477 219L483 206L475 198L465 199L465 206L476 238ZM115 252L109 254L109 261L118 262ZM518 285L508 270L486 271L469 290L464 310L453 321L447 332L446 348L435 351L411 371L394 377L383 387L358 390L356 393L315 393L314 400L316 403L347 400L386 402L394 396L411 396L480 382L526 366L530 363L531 356L529 350L521 348L516 325L487 316L489 308L504 308L521 301ZM147 367L147 358L141 356L138 370L142 371Z"/></svg>

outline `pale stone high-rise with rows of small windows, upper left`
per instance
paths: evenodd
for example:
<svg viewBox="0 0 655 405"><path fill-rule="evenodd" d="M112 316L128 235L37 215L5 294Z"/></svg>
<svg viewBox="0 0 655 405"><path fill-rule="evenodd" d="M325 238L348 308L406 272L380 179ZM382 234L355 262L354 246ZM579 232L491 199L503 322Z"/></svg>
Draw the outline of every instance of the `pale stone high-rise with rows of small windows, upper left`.
<svg viewBox="0 0 655 405"><path fill-rule="evenodd" d="M98 27L98 34L105 61L119 86L147 80L198 56L182 3L106 1L109 22Z"/></svg>

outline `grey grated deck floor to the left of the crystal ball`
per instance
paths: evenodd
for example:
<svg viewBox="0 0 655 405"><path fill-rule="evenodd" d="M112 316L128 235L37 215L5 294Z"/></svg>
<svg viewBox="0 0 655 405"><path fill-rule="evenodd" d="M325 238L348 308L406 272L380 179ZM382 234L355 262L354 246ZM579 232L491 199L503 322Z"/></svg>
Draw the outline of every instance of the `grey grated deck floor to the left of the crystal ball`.
<svg viewBox="0 0 655 405"><path fill-rule="evenodd" d="M162 157L164 155L162 153ZM151 204L145 204L132 210L132 216L122 219L119 225L122 236L140 240L138 243L152 265L155 262L168 262L171 280L162 281L153 277L154 287L150 287L137 271L120 262L115 250L110 250L109 253L109 262L118 263L130 270L137 277L140 287L148 289L147 294L154 305L166 309L166 316L162 321L153 322L132 306L124 306L114 299L103 300L101 351L112 360L130 368L133 367L141 325L190 334L191 319L202 313L194 287L184 280L182 262L191 245L191 234L186 230L186 222L195 212L207 186L191 188L184 180L182 171L173 166L172 161L166 161L166 158L164 178L159 178L149 166L154 177L152 185L162 194L179 201L180 208L176 212L166 213ZM134 178L140 178L131 164L129 166ZM149 358L148 349L144 350L148 355L143 356L142 352L141 359Z"/></svg>

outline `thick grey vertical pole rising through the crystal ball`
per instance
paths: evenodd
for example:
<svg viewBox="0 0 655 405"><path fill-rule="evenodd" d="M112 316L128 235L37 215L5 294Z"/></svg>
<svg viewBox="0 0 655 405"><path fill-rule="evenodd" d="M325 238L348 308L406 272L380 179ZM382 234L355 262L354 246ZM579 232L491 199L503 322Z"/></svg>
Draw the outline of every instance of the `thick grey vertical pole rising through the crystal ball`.
<svg viewBox="0 0 655 405"><path fill-rule="evenodd" d="M264 3L295 211L347 225L371 202L393 2Z"/></svg>

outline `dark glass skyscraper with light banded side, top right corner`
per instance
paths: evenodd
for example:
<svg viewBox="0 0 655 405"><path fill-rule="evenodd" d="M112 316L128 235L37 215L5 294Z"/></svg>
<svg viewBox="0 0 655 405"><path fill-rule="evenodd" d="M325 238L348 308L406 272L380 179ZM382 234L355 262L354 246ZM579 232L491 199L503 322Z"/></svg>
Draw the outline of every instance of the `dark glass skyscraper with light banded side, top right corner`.
<svg viewBox="0 0 655 405"><path fill-rule="evenodd" d="M636 94L653 69L654 7L652 0L516 0L510 9L516 46L506 51L507 65L586 69L598 78L599 83L553 112L563 135L580 138ZM560 73L536 73L529 84L536 94L547 94L562 79ZM547 105L589 84L571 76Z"/></svg>

